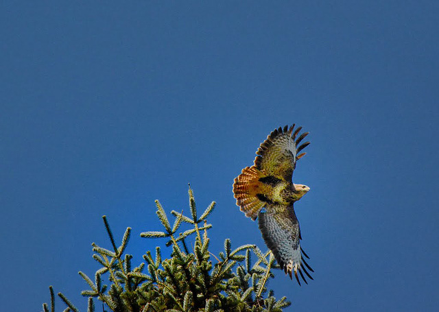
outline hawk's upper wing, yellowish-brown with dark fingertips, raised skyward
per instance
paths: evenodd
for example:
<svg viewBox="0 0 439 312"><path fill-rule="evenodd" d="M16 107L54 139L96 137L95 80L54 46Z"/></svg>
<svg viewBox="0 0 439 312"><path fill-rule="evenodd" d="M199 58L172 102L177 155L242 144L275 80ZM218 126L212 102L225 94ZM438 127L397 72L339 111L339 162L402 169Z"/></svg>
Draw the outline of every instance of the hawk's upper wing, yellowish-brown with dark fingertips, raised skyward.
<svg viewBox="0 0 439 312"><path fill-rule="evenodd" d="M298 153L309 145L305 142L298 146L309 133L304 132L297 137L300 130L302 127L294 130L294 125L289 128L285 125L270 133L256 152L258 156L254 159L254 166L268 176L291 182L296 161L305 155Z"/></svg>

